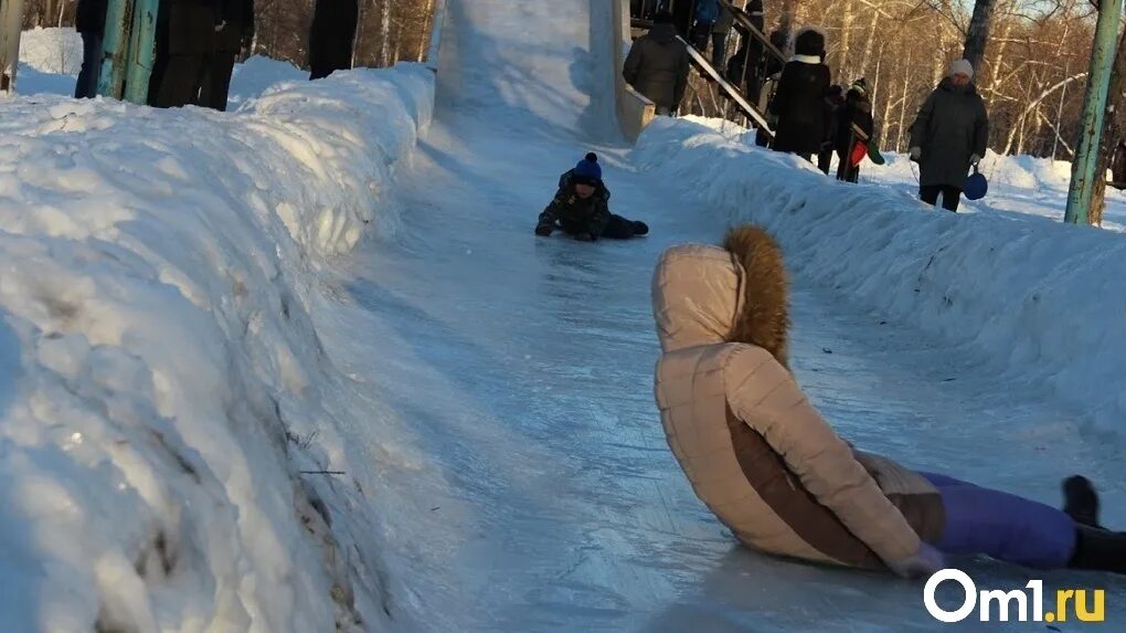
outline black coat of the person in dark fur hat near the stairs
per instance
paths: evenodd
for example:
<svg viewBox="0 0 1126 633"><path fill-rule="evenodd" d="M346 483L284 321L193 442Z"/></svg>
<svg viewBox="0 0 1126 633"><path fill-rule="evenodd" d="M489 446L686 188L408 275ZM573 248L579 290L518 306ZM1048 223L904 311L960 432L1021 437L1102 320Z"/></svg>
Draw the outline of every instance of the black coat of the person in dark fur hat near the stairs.
<svg viewBox="0 0 1126 633"><path fill-rule="evenodd" d="M778 117L774 149L813 154L825 139L825 92L831 78L819 57L797 55L781 71L770 113Z"/></svg>

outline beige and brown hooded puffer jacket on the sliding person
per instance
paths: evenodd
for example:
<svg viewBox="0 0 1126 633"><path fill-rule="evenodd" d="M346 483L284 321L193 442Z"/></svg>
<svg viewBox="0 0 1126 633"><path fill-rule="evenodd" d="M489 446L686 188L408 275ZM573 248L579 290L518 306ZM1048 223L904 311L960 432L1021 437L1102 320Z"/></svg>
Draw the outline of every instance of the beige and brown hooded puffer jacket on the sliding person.
<svg viewBox="0 0 1126 633"><path fill-rule="evenodd" d="M653 277L663 355L655 393L669 447L696 493L743 543L878 569L936 542L935 488L855 452L788 369L787 279L765 231L668 249Z"/></svg>

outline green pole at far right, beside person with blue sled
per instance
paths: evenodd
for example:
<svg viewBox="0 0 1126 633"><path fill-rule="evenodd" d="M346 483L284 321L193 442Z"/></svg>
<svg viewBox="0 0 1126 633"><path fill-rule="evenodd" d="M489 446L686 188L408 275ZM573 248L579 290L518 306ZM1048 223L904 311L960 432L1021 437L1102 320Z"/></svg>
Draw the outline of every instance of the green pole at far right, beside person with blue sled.
<svg viewBox="0 0 1126 633"><path fill-rule="evenodd" d="M1107 92L1110 89L1110 69L1118 44L1118 19L1121 0L1102 0L1099 21L1094 27L1094 46L1091 51L1091 71L1088 75L1087 98L1083 102L1083 127L1075 150L1075 161L1071 164L1071 189L1067 191L1067 211L1064 222L1087 224L1091 207L1091 193L1096 173L1099 148L1102 142L1102 119L1107 112Z"/></svg>

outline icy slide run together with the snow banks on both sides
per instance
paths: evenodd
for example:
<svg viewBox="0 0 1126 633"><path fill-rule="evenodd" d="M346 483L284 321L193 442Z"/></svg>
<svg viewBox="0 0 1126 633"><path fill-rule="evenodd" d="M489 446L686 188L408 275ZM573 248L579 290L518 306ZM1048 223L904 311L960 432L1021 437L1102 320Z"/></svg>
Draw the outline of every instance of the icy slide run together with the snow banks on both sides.
<svg viewBox="0 0 1126 633"><path fill-rule="evenodd" d="M1043 628L739 546L660 427L652 267L767 224L842 434L1053 505L1084 472L1123 526L1121 235L926 212L892 168L838 185L691 121L627 148L609 3L449 5L421 137L411 65L251 60L227 114L0 104L0 630ZM591 149L650 237L534 237ZM1126 616L1119 580L1035 577Z"/></svg>

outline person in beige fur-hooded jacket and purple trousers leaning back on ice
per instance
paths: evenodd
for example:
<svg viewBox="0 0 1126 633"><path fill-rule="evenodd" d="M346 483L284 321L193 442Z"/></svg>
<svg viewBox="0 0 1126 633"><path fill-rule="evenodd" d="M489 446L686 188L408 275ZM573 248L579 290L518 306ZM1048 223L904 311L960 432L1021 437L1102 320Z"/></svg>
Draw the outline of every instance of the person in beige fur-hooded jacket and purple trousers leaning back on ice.
<svg viewBox="0 0 1126 633"><path fill-rule="evenodd" d="M919 473L852 447L789 369L781 249L763 230L681 244L653 275L656 404L696 494L759 551L904 577L945 554L1126 573L1126 534L1099 529L1090 483L1045 503Z"/></svg>

